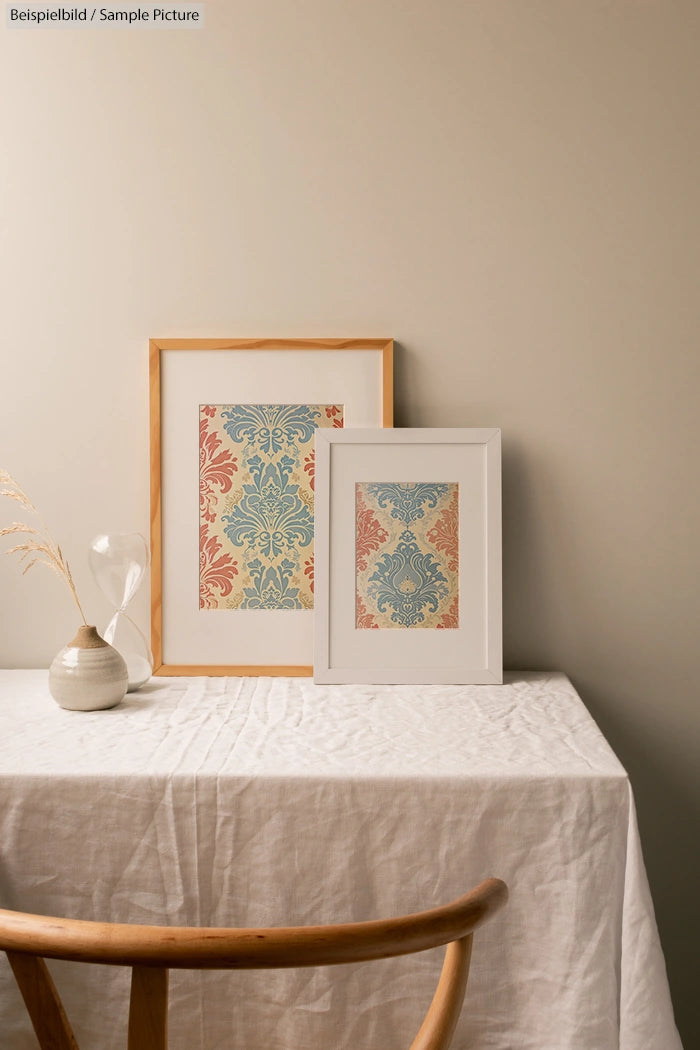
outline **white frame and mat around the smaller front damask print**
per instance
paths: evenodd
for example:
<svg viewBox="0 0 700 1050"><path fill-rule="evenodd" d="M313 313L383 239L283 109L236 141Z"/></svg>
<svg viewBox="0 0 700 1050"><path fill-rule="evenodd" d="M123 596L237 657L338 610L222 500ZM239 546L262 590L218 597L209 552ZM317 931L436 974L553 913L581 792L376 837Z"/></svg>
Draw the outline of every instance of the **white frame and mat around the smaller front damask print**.
<svg viewBox="0 0 700 1050"><path fill-rule="evenodd" d="M365 595L359 592L357 494L381 494L385 483L413 492L418 486L427 489L426 483L436 483L442 492L452 492L453 506L459 504L459 524L453 525L459 543L452 538L453 545L458 543L458 569L451 584L440 585L444 593L451 587L452 608L459 608L459 616L443 617L439 625L453 625L457 620L450 629L358 626L364 626L366 618L358 614L358 609L364 611ZM381 500L377 507L380 504ZM425 507L427 514L428 504ZM377 512L394 514L393 508L384 502ZM388 523L385 517L384 524ZM436 529L431 534L441 533ZM433 553L438 560L444 558L444 547L442 555L437 548ZM390 556L382 554L381 564L396 564ZM410 585L407 578L406 585ZM374 588L376 597L379 584L364 586ZM501 430L317 430L315 602L314 680L319 684L501 684ZM384 604L384 622L391 608L398 606Z"/></svg>

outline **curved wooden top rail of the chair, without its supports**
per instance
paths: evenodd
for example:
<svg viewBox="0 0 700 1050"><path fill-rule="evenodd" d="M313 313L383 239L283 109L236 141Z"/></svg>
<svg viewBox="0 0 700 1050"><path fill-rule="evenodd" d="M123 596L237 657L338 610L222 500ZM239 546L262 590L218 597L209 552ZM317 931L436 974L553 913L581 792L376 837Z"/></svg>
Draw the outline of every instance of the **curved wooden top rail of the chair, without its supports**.
<svg viewBox="0 0 700 1050"><path fill-rule="evenodd" d="M410 954L467 937L508 889L486 879L449 904L395 919L259 928L144 926L0 909L0 950L46 959L181 969L327 966Z"/></svg>

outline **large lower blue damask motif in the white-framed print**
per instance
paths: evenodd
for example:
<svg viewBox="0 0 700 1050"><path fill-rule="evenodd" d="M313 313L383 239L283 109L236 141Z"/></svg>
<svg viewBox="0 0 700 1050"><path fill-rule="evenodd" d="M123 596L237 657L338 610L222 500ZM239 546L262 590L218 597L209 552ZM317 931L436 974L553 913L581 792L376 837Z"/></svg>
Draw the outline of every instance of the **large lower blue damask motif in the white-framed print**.
<svg viewBox="0 0 700 1050"><path fill-rule="evenodd" d="M439 564L431 553L421 552L409 529L401 533L394 551L380 556L367 581L367 595L380 612L391 609L393 623L401 627L423 623L424 610L437 612L447 593L447 580Z"/></svg>

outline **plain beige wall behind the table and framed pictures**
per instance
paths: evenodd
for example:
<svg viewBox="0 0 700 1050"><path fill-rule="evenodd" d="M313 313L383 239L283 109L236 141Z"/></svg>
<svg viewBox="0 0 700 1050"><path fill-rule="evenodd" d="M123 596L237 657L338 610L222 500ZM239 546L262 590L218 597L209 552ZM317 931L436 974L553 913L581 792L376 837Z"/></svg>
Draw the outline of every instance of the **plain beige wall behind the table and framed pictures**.
<svg viewBox="0 0 700 1050"><path fill-rule="evenodd" d="M568 672L630 770L697 1045L700 4L206 18L0 28L0 465L104 623L85 549L148 528L149 336L394 336L400 425L503 427L506 663ZM0 588L0 665L46 665L60 584Z"/></svg>

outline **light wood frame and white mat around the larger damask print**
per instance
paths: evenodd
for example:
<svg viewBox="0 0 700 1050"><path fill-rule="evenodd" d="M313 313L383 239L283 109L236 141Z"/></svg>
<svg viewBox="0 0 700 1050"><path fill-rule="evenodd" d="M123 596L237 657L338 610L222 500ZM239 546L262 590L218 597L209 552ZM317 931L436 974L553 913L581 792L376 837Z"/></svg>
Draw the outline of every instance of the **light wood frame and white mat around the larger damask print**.
<svg viewBox="0 0 700 1050"><path fill-rule="evenodd" d="M313 608L201 607L200 412L338 404L344 426L391 426L393 352L391 339L150 340L154 674L311 676Z"/></svg>

